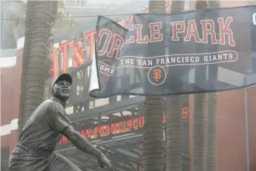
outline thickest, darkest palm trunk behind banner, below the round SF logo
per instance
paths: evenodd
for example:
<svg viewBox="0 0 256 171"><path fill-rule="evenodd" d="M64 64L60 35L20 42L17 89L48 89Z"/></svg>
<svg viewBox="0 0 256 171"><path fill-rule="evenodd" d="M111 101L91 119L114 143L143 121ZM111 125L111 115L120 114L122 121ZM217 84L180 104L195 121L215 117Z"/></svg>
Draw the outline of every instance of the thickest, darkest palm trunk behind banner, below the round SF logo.
<svg viewBox="0 0 256 171"><path fill-rule="evenodd" d="M166 2L150 0L149 13L166 13ZM165 162L163 159L163 98L146 97L144 110L143 170L162 171Z"/></svg>

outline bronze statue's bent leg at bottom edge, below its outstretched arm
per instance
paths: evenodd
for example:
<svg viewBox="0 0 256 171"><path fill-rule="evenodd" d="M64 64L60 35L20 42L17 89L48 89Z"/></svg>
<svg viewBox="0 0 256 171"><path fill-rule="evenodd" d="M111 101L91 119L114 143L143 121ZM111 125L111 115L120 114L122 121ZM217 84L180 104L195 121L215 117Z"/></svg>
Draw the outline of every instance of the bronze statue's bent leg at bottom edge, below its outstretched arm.
<svg viewBox="0 0 256 171"><path fill-rule="evenodd" d="M57 154L58 155L58 154ZM66 157L58 155L55 162L49 167L49 171L81 171Z"/></svg>

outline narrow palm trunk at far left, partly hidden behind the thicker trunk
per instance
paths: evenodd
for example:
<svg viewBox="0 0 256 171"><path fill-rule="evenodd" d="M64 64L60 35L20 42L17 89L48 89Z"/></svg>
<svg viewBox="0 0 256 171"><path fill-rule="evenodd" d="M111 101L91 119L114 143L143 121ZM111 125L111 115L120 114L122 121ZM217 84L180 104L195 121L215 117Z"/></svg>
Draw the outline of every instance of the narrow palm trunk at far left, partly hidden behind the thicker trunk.
<svg viewBox="0 0 256 171"><path fill-rule="evenodd" d="M25 40L24 40L24 50L22 58L22 73L21 73L21 95L20 95L20 107L18 116L18 135L25 125L24 118L24 106L26 99L26 85L27 85L27 64L30 58L30 45L31 45L31 34L32 34L32 17L33 17L33 1L27 2L27 14L25 23Z"/></svg>

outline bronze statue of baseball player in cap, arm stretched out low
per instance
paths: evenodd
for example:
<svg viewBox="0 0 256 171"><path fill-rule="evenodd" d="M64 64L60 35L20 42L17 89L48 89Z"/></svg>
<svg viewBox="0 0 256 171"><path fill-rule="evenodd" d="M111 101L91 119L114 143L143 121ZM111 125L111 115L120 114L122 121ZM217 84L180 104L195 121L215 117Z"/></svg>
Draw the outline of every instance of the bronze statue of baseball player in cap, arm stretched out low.
<svg viewBox="0 0 256 171"><path fill-rule="evenodd" d="M63 73L52 81L52 98L33 111L11 153L9 171L81 171L70 160L55 154L55 145L65 135L77 148L97 157L100 167L113 170L109 159L71 126L65 104L72 78Z"/></svg>

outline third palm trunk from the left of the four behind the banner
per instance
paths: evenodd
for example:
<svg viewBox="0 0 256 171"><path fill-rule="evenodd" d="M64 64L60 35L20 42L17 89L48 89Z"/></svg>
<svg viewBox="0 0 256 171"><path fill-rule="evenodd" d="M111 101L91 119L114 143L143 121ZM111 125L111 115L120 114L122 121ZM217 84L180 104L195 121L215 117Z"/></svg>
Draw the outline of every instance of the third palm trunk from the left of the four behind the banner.
<svg viewBox="0 0 256 171"><path fill-rule="evenodd" d="M197 1L195 3L195 8L207 9L207 1ZM198 14L197 20L200 20L200 15ZM200 27L198 27L200 28ZM201 31L198 30L199 33ZM199 45L197 45L197 48ZM195 70L196 78L204 78L205 68L204 66L197 67ZM197 80L195 80L197 82ZM205 144L206 144L206 103L207 95L205 93L194 95L194 128L193 128L193 170L203 171L205 170Z"/></svg>

